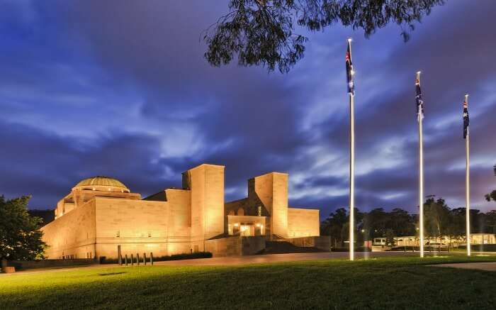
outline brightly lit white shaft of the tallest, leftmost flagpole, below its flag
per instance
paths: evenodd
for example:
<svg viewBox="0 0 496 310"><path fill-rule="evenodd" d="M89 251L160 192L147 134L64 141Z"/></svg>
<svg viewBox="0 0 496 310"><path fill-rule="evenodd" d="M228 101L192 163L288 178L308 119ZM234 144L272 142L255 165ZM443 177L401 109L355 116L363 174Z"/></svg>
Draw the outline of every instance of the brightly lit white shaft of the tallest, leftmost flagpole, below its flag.
<svg viewBox="0 0 496 310"><path fill-rule="evenodd" d="M355 111L354 94L349 94L349 260L354 260L355 250Z"/></svg>

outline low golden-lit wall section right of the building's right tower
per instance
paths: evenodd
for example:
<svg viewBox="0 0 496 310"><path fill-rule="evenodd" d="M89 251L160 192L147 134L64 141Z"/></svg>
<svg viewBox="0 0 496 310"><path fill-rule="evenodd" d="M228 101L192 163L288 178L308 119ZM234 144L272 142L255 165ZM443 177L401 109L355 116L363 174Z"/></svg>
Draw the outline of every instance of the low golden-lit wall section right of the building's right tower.
<svg viewBox="0 0 496 310"><path fill-rule="evenodd" d="M320 236L319 210L288 208L288 237Z"/></svg>

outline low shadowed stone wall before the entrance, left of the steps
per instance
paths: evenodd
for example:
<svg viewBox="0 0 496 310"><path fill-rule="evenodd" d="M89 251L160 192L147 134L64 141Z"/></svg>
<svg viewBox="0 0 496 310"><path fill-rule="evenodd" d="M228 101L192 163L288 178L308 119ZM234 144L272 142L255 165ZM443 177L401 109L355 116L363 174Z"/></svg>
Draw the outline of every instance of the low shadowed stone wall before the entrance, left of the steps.
<svg viewBox="0 0 496 310"><path fill-rule="evenodd" d="M265 248L265 237L227 237L205 240L205 251L213 257L254 255Z"/></svg>

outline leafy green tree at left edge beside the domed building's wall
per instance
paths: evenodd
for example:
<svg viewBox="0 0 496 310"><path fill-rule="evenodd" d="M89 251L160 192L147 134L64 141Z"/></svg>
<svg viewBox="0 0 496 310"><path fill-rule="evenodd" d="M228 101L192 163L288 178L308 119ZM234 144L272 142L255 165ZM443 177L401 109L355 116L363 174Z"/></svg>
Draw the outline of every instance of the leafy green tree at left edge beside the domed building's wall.
<svg viewBox="0 0 496 310"><path fill-rule="evenodd" d="M0 196L0 259L44 258L46 244L41 240L41 218L28 214L30 198L21 196L6 200Z"/></svg>

